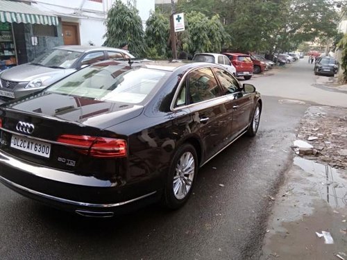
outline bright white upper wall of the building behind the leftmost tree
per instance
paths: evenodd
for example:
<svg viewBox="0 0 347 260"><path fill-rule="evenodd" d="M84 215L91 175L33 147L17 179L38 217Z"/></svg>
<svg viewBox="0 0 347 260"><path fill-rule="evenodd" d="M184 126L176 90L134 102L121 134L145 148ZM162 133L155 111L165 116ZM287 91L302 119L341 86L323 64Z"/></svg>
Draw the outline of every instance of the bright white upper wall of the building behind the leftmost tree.
<svg viewBox="0 0 347 260"><path fill-rule="evenodd" d="M128 2L128 0L122 1ZM103 0L102 3L90 0L37 0L32 5L61 17L62 21L80 24L81 45L92 42L100 46L105 42L103 35L106 33L106 28L103 22L113 2L114 0ZM154 10L155 0L130 0L130 2L139 10L139 16L145 26L151 10Z"/></svg>

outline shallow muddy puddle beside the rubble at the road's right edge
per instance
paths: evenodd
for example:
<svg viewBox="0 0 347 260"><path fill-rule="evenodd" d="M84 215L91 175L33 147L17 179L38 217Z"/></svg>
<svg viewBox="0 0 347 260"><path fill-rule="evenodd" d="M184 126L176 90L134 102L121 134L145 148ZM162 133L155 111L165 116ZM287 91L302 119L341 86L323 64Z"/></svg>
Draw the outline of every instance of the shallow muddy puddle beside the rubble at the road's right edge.
<svg viewBox="0 0 347 260"><path fill-rule="evenodd" d="M347 180L340 177L335 168L301 157L295 157L294 164L311 173L307 179L317 184L321 198L331 207L346 207Z"/></svg>

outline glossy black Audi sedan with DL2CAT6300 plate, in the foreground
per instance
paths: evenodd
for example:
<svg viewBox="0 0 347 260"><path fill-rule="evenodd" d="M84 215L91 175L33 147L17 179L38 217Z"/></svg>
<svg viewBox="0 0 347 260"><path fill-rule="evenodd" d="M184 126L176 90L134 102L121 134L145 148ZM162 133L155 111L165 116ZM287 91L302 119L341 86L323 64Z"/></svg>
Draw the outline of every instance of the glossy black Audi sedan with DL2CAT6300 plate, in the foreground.
<svg viewBox="0 0 347 260"><path fill-rule="evenodd" d="M261 111L255 87L218 64L98 62L0 105L0 181L83 216L177 209Z"/></svg>

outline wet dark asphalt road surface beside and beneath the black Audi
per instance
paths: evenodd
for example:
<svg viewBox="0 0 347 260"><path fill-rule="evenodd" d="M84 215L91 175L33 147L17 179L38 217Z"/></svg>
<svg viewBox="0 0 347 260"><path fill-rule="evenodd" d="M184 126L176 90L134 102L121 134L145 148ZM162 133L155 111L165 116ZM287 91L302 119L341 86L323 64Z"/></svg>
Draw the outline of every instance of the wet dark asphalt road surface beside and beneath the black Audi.
<svg viewBox="0 0 347 260"><path fill-rule="evenodd" d="M312 70L295 69L301 64L244 81L266 92L258 135L242 137L201 168L183 209L153 205L111 219L82 218L0 185L0 258L258 259L271 196L292 163L289 146L307 109L279 103L283 95L268 88L281 85L283 77L286 84L301 84L306 73L313 84Z"/></svg>

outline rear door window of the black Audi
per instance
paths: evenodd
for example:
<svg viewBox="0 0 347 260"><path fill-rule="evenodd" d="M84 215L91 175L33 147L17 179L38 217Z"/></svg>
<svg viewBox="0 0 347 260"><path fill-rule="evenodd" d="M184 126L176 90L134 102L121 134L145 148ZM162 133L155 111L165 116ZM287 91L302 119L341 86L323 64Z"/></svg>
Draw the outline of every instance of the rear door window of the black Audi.
<svg viewBox="0 0 347 260"><path fill-rule="evenodd" d="M188 75L189 103L198 103L221 96L216 78L210 68L196 69Z"/></svg>

